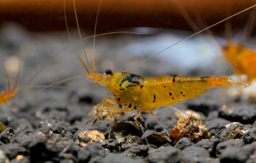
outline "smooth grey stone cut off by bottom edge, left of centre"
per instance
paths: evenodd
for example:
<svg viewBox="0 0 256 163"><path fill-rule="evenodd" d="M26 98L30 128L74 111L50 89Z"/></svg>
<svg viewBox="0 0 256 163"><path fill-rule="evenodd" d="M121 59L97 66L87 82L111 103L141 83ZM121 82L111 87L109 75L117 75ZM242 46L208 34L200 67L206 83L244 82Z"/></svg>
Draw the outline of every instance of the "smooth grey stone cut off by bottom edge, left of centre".
<svg viewBox="0 0 256 163"><path fill-rule="evenodd" d="M127 162L127 163L140 163L140 161L129 158L124 155L109 153L104 159L102 159L101 163L120 163L120 162Z"/></svg>

